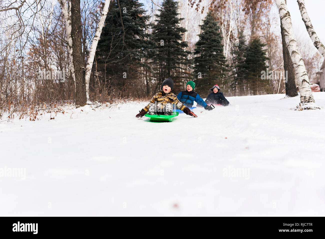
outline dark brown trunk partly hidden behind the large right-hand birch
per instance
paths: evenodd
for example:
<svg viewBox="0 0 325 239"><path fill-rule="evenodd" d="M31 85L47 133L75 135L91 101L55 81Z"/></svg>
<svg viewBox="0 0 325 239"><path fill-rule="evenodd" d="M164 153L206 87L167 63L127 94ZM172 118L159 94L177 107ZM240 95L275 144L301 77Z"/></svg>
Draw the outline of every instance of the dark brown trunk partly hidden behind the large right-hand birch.
<svg viewBox="0 0 325 239"><path fill-rule="evenodd" d="M282 36L283 68L284 68L284 72L287 72L287 74L285 75L288 78L285 81L285 94L288 97L294 97L298 95L296 81L294 79L294 69L293 69L287 44L285 43L282 23L280 24L280 27L281 27L281 36Z"/></svg>

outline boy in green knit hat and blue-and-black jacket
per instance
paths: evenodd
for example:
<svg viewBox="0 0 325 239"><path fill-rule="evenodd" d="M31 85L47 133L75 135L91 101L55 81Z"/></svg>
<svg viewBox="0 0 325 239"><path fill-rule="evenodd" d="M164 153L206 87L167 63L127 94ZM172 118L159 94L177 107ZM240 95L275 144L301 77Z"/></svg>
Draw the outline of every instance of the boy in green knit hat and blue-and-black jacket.
<svg viewBox="0 0 325 239"><path fill-rule="evenodd" d="M179 92L177 99L188 108L192 107L195 101L197 104L204 107L204 109L212 110L213 108L211 106L208 106L200 97L200 95L193 91L194 88L195 83L193 81L187 82L186 91Z"/></svg>

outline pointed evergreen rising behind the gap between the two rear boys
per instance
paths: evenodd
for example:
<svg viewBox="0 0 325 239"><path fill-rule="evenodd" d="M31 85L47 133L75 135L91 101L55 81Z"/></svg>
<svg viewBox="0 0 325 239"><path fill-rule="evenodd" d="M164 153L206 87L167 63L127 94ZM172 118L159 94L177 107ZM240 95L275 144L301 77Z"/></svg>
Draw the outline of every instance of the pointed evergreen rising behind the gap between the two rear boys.
<svg viewBox="0 0 325 239"><path fill-rule="evenodd" d="M208 13L200 25L199 41L195 44L194 74L197 82L197 92L206 94L209 89L218 84L223 88L226 84L227 61L223 55L223 44L220 27Z"/></svg>

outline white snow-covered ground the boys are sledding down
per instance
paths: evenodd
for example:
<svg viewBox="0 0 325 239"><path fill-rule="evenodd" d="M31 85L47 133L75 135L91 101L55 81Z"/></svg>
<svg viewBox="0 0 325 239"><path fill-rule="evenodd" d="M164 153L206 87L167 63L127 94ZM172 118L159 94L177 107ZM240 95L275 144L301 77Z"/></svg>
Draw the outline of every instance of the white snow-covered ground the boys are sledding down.
<svg viewBox="0 0 325 239"><path fill-rule="evenodd" d="M0 215L325 216L325 109L227 99L167 123L136 119L144 102L0 123Z"/></svg>

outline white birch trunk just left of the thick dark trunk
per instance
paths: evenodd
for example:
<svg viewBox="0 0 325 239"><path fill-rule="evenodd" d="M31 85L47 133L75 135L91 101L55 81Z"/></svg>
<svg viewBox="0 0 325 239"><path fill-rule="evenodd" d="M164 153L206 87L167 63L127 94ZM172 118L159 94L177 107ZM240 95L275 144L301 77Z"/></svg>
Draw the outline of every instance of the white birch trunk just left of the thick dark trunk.
<svg viewBox="0 0 325 239"><path fill-rule="evenodd" d="M71 37L71 4L69 4L69 7L67 6L67 1L66 0L58 0L62 13L64 16L64 22L65 22L65 30L67 33L67 42L68 42L68 52L69 52L69 58L70 58L70 63L69 63L69 69L72 74L72 79L74 82L74 88L76 89L76 77L74 75L74 67L73 67L73 58L72 58L72 37Z"/></svg>

